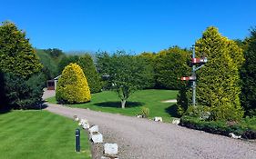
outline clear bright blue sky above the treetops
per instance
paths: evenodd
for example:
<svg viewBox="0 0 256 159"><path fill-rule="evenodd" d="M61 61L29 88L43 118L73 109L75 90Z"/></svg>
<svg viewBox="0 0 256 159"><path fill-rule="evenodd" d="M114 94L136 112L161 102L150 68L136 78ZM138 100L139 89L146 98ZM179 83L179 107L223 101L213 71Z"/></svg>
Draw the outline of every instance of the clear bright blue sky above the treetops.
<svg viewBox="0 0 256 159"><path fill-rule="evenodd" d="M0 21L36 48L158 52L190 47L210 25L230 39L256 26L255 0L0 0Z"/></svg>

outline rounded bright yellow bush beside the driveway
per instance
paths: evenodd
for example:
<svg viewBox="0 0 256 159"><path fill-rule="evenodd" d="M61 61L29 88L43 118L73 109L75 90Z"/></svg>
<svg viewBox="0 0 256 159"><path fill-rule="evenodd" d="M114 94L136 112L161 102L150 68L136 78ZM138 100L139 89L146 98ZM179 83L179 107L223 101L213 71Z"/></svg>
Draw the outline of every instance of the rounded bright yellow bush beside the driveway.
<svg viewBox="0 0 256 159"><path fill-rule="evenodd" d="M77 64L65 67L56 86L56 101L62 104L89 102L91 99L87 78Z"/></svg>

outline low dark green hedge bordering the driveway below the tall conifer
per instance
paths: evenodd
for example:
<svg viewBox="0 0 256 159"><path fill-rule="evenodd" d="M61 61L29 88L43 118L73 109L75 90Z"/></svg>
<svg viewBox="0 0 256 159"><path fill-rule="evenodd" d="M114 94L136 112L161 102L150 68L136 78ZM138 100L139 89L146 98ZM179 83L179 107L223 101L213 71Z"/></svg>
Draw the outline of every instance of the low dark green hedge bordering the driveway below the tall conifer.
<svg viewBox="0 0 256 159"><path fill-rule="evenodd" d="M230 133L241 135L245 139L256 139L256 117L245 118L240 123L223 121L204 121L196 117L182 116L180 125L202 130L211 134L228 136Z"/></svg>

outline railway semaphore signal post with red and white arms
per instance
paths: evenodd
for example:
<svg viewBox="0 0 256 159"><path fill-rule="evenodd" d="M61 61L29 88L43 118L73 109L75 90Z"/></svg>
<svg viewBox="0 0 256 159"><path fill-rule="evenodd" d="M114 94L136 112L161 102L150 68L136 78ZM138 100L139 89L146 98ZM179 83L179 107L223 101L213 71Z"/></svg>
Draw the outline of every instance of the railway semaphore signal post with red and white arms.
<svg viewBox="0 0 256 159"><path fill-rule="evenodd" d="M195 53L195 46L192 46L192 58L191 58L191 65L192 65L192 71L191 71L191 76L185 76L181 77L181 81L189 81L191 82L191 88L192 88L192 105L196 105L196 81L197 81L197 75L196 71L199 70L203 65L207 63L207 58L202 57L202 58L196 58L196 53ZM198 65L198 67L197 67Z"/></svg>

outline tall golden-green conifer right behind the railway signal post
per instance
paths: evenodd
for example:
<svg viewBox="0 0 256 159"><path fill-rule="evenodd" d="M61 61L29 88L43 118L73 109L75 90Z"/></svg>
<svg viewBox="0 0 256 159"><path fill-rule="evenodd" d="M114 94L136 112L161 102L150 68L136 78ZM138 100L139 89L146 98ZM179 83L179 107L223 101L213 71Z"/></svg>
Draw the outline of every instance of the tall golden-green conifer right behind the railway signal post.
<svg viewBox="0 0 256 159"><path fill-rule="evenodd" d="M210 106L213 120L240 120L244 114L240 102L241 48L211 26L196 42L196 53L208 58L197 72L198 104Z"/></svg>

